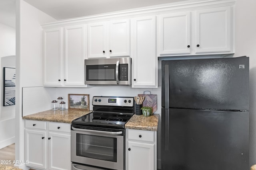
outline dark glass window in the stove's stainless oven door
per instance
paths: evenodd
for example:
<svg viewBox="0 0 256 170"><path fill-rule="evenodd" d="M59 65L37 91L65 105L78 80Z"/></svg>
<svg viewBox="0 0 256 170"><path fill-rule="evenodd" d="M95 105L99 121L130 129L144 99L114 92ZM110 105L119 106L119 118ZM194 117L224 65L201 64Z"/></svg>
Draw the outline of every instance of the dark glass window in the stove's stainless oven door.
<svg viewBox="0 0 256 170"><path fill-rule="evenodd" d="M76 155L116 162L116 138L76 134Z"/></svg>

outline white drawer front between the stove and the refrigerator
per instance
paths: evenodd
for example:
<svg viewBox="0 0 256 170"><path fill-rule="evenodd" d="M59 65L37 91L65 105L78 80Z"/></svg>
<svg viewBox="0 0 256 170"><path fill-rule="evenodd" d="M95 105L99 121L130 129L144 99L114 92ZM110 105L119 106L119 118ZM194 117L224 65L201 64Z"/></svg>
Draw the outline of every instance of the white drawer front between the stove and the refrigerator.
<svg viewBox="0 0 256 170"><path fill-rule="evenodd" d="M140 131L128 129L128 139L137 141L147 141L154 142L154 132L153 131Z"/></svg>

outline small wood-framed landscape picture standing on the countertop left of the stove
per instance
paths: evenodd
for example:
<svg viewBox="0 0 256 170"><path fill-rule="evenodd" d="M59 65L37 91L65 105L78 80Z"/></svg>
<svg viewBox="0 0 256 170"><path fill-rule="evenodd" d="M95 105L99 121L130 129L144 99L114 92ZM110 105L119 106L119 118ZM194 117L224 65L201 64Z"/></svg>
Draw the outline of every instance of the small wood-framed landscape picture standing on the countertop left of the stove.
<svg viewBox="0 0 256 170"><path fill-rule="evenodd" d="M89 94L68 94L68 109L82 109L89 111Z"/></svg>

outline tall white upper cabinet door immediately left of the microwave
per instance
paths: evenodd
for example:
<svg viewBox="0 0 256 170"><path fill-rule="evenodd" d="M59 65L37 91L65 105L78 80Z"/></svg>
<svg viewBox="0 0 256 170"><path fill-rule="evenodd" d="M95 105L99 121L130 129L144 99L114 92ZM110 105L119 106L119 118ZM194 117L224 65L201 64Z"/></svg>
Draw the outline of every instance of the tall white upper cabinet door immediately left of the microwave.
<svg viewBox="0 0 256 170"><path fill-rule="evenodd" d="M65 27L64 40L64 84L65 86L85 86L85 26Z"/></svg>

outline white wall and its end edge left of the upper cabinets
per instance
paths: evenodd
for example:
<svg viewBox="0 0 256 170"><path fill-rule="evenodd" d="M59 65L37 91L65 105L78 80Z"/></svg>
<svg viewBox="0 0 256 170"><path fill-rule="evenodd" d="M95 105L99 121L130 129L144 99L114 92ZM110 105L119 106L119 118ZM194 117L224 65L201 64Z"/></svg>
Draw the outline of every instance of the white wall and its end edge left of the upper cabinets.
<svg viewBox="0 0 256 170"><path fill-rule="evenodd" d="M16 0L15 160L25 160L22 88L42 86L43 33L40 25L53 21L56 20L23 0Z"/></svg>

